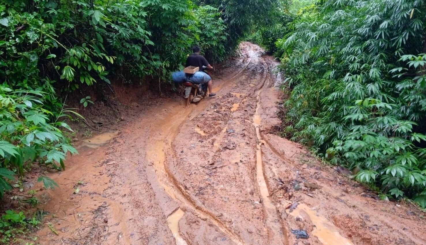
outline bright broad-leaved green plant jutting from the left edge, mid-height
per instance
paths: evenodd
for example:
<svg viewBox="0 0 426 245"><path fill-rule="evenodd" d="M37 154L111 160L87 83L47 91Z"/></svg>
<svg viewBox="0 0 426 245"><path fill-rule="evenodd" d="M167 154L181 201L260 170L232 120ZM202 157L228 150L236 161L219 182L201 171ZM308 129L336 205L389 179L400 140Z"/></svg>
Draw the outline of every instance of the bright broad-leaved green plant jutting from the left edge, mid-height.
<svg viewBox="0 0 426 245"><path fill-rule="evenodd" d="M0 197L11 188L6 179L23 175L26 164L38 159L45 165L58 162L64 168L66 153L77 153L60 129L70 130L65 122L58 121L66 115L43 108L46 97L43 91L0 85Z"/></svg>

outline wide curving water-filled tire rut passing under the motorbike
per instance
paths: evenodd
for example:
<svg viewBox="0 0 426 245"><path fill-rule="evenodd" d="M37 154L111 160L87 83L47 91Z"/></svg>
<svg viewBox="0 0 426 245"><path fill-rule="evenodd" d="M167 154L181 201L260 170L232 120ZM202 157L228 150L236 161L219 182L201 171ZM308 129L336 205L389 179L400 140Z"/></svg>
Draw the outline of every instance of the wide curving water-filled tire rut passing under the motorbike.
<svg viewBox="0 0 426 245"><path fill-rule="evenodd" d="M220 91L223 87L228 85L230 80L233 80L239 74L241 74L245 69L250 65L251 58L248 59L247 64L233 77L225 80L220 85L213 89L213 92ZM168 217L167 222L170 230L175 237L177 245L187 245L187 242L179 234L178 222L184 216L184 211L182 210L182 205L186 209L195 211L199 216L207 218L212 222L216 227L218 227L222 232L224 232L230 239L233 240L236 244L244 244L242 239L236 235L230 228L228 228L220 219L218 219L214 214L208 211L206 208L202 207L201 204L196 203L196 201L190 197L190 195L184 191L184 187L181 186L176 179L176 177L170 172L170 169L167 166L167 157L166 153L170 153L174 158L176 156L173 154L173 151L170 150L171 142L175 140L177 133L182 127L185 120L190 116L194 111L201 111L206 107L205 101L202 102L202 106L198 105L196 109L194 106L191 108L184 108L183 110L178 110L169 115L169 120L162 124L156 125L155 129L157 131L164 131L164 134L160 136L160 139L155 140L152 144L154 147L147 150L147 156L153 158L153 165L155 168L155 174L157 175L158 183L164 188L166 193L175 201L180 203L179 208L173 211ZM165 130L166 129L166 130ZM170 134L171 132L171 134ZM169 155L170 155L169 154ZM161 174L163 176L161 176ZM167 185L164 179L169 182Z"/></svg>

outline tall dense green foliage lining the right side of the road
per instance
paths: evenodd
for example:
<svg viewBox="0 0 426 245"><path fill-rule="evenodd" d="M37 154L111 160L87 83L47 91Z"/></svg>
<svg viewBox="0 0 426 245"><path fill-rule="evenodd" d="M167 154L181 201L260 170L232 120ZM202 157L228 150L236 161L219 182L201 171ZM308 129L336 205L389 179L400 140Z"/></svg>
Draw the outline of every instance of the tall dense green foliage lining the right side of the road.
<svg viewBox="0 0 426 245"><path fill-rule="evenodd" d="M426 3L307 6L276 43L292 88L286 137L426 207Z"/></svg>

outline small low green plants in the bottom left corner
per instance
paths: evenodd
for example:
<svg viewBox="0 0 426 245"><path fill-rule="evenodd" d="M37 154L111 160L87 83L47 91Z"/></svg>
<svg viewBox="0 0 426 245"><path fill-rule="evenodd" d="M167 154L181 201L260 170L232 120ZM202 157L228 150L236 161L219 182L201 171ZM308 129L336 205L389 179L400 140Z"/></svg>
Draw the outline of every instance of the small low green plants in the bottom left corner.
<svg viewBox="0 0 426 245"><path fill-rule="evenodd" d="M0 219L0 242L12 244L17 237L29 233L29 227L37 227L40 221L35 217L28 219L24 213L7 210Z"/></svg>

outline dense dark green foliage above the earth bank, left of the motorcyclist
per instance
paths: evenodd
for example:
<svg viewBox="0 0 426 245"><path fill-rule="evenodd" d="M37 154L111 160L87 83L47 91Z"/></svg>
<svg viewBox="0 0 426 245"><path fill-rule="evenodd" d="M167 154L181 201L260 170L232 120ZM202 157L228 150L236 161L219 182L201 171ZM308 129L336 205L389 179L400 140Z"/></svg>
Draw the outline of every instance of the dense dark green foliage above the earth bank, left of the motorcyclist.
<svg viewBox="0 0 426 245"><path fill-rule="evenodd" d="M27 1L6 0L8 20L0 71L11 85L110 83L116 71L137 77L166 77L200 43L224 57L225 26L218 9L189 0ZM3 51L2 51L3 52Z"/></svg>

